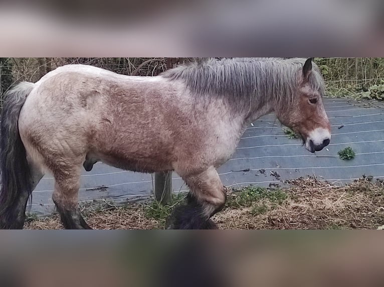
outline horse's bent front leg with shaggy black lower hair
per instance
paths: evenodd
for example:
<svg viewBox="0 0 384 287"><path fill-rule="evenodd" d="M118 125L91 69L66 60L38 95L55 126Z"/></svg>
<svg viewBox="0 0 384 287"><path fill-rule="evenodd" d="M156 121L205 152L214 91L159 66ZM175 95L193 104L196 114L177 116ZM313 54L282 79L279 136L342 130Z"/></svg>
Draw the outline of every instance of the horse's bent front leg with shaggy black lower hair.
<svg viewBox="0 0 384 287"><path fill-rule="evenodd" d="M215 167L182 176L190 192L184 205L176 206L166 222L166 229L216 229L210 219L223 209L227 193Z"/></svg>

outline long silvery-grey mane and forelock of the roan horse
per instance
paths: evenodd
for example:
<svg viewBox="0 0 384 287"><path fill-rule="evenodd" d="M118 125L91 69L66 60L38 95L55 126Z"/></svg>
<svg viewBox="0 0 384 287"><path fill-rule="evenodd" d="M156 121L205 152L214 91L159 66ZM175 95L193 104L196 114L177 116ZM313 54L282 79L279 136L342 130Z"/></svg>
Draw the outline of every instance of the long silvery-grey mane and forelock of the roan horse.
<svg viewBox="0 0 384 287"><path fill-rule="evenodd" d="M305 58L209 58L169 69L162 75L182 80L197 95L225 97L231 103L274 100L286 105L298 91L298 75ZM324 93L321 73L315 63L309 83Z"/></svg>

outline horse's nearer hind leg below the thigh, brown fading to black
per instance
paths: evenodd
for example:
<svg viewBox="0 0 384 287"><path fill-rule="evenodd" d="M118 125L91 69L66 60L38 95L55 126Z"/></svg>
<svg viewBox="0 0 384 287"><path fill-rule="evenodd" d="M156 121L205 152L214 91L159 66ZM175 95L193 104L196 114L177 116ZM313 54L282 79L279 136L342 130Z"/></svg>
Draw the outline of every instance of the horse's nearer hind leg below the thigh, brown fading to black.
<svg viewBox="0 0 384 287"><path fill-rule="evenodd" d="M80 167L62 167L54 171L55 190L52 199L66 229L92 229L80 214L78 192Z"/></svg>

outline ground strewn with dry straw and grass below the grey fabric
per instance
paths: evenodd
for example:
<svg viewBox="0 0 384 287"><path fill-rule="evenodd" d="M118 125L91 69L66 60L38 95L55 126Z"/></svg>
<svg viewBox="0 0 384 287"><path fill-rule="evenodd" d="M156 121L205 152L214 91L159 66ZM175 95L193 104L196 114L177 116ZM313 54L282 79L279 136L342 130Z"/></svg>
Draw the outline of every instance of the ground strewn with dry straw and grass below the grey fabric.
<svg viewBox="0 0 384 287"><path fill-rule="evenodd" d="M363 176L347 185L320 182L313 177L288 181L288 188L249 186L229 190L228 202L213 220L220 229L377 229L384 225L384 183ZM82 206L94 229L162 229L166 216L183 200L115 206ZM27 229L61 229L57 214L29 216Z"/></svg>

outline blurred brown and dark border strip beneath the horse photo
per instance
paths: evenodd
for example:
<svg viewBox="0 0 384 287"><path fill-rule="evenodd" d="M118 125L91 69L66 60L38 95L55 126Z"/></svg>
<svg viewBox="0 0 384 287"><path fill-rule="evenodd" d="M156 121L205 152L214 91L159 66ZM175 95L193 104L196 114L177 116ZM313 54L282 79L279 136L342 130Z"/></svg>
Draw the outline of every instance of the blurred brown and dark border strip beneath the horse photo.
<svg viewBox="0 0 384 287"><path fill-rule="evenodd" d="M378 286L376 231L12 231L1 286Z"/></svg>

